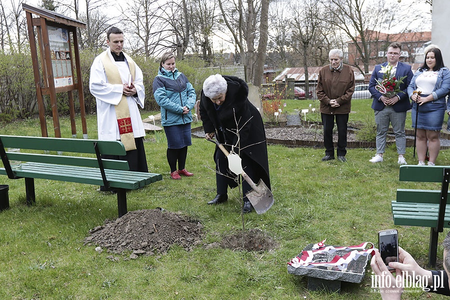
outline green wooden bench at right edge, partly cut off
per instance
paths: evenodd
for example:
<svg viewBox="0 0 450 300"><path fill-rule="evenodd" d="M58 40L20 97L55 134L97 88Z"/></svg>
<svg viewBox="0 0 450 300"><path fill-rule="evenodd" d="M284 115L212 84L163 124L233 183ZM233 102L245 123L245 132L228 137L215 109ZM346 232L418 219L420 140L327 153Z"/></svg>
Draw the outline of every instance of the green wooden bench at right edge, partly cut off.
<svg viewBox="0 0 450 300"><path fill-rule="evenodd" d="M444 227L450 227L450 206L447 207L450 166L401 165L400 181L440 182L437 189L397 188L392 201L395 225L430 227L428 265L435 266L437 237Z"/></svg>

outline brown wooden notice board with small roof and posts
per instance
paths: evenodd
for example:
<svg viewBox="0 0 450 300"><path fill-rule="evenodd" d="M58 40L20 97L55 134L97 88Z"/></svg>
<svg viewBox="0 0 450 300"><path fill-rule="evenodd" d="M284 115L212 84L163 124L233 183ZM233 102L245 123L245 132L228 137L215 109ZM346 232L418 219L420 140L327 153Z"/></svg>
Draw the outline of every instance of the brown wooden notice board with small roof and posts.
<svg viewBox="0 0 450 300"><path fill-rule="evenodd" d="M76 137L73 90L77 90L83 138L87 138L78 38L76 35L76 28L86 28L86 24L54 11L34 7L26 3L22 3L22 9L26 12L26 23L28 27L42 136L48 136L45 120L45 105L43 101L44 95L48 95L50 98L54 136L61 137L56 94L67 92L70 127L72 137ZM38 17L33 18L32 14L35 14ZM71 40L73 40L73 43ZM40 67L37 45L39 45ZM75 63L75 68L73 63ZM75 73L74 69L76 70Z"/></svg>

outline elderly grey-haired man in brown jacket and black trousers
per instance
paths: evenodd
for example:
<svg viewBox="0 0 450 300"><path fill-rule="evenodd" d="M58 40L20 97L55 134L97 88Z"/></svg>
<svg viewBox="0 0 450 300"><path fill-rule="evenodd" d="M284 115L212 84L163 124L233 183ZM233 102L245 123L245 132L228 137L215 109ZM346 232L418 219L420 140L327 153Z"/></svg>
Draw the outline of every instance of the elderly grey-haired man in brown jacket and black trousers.
<svg viewBox="0 0 450 300"><path fill-rule="evenodd" d="M345 162L347 150L347 122L351 95L354 91L354 74L351 67L342 63L343 53L332 49L328 53L329 65L323 66L318 75L316 94L320 100L320 116L323 124L325 156L322 161L334 159L334 116L337 124L337 159Z"/></svg>

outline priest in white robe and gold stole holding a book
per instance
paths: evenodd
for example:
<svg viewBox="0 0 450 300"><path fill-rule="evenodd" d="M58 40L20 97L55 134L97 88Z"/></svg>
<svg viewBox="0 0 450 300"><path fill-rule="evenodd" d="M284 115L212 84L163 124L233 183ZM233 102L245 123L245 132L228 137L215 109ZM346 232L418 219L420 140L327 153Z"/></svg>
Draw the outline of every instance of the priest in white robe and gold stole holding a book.
<svg viewBox="0 0 450 300"><path fill-rule="evenodd" d="M90 67L89 90L97 104L98 139L121 140L126 155L103 158L127 160L130 170L148 172L145 130L137 107L144 106L142 71L122 52L123 32L119 28L109 28L106 36L108 48Z"/></svg>

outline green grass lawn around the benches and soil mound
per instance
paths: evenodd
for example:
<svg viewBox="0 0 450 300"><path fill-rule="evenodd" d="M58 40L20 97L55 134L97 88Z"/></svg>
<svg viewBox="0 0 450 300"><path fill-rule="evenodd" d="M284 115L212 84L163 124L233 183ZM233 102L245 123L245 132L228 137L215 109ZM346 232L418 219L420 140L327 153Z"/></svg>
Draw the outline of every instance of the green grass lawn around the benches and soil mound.
<svg viewBox="0 0 450 300"><path fill-rule="evenodd" d="M284 110L294 112L309 103L318 107L317 101L287 100ZM373 118L370 103L353 100L350 121ZM81 131L79 117L76 121ZM51 128L51 119L47 123ZM87 126L89 138L96 138L95 115L87 117ZM63 137L71 136L68 117L60 118L60 127ZM0 134L40 136L39 120L3 125ZM193 138L186 168L195 175L176 181L169 179L163 132L148 133L144 144L149 170L163 174L163 180L130 191L128 210L163 207L190 215L203 224L205 243L241 228L237 189L229 192L228 202L206 205L215 195L213 144ZM406 151L406 160L415 164L412 148ZM379 299L370 288L370 267L361 283L328 293L307 290L306 278L288 274L286 265L308 243L324 238L337 246L376 243L378 230L394 227L390 201L395 190L415 183L398 181L394 145L382 163L368 162L374 153L348 149L346 163L322 162L323 148L268 145L275 204L264 214L245 215L245 227L268 232L279 243L271 252L203 247L186 252L174 246L161 257L125 259L124 254L111 261L110 253L98 253L82 240L89 229L117 217L115 195L97 192L94 185L36 179L36 205L28 207L23 180L1 176L0 183L9 184L10 209L0 213L0 299ZM450 164L450 151L442 150L436 163ZM425 266L429 228L397 229L400 246ZM441 267L440 245L437 252ZM408 291L404 299L444 298Z"/></svg>

